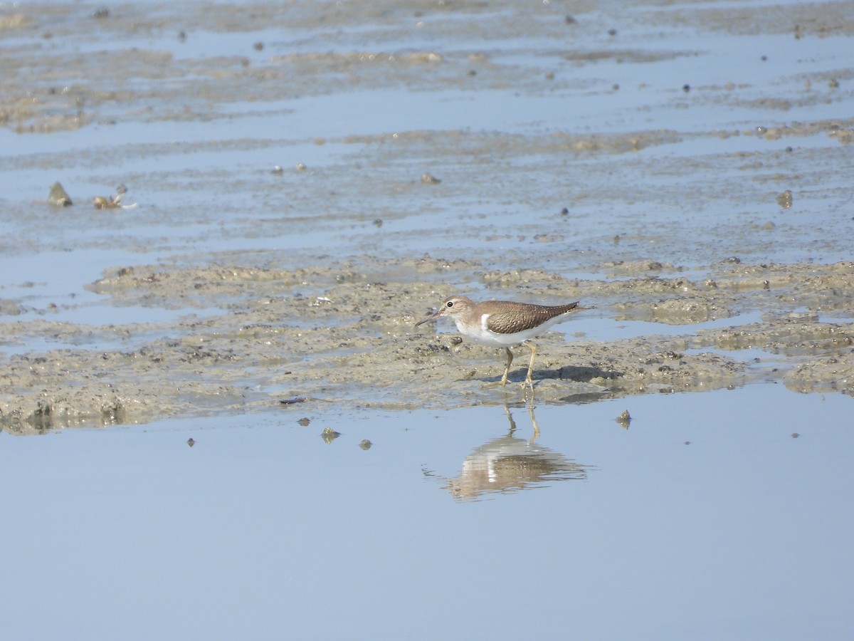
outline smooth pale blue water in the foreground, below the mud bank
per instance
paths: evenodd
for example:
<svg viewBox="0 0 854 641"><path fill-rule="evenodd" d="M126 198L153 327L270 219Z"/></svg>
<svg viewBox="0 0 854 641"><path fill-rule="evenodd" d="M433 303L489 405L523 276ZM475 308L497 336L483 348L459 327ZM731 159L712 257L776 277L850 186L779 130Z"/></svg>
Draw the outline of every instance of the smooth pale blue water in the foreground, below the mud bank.
<svg viewBox="0 0 854 641"><path fill-rule="evenodd" d="M19 479L0 501L15 515L3 581L50 584L6 600L3 625L9 638L845 638L849 404L758 385L542 405L533 443L528 412L509 410L508 434L500 406L300 404L0 435L3 476ZM325 426L341 432L331 444Z"/></svg>

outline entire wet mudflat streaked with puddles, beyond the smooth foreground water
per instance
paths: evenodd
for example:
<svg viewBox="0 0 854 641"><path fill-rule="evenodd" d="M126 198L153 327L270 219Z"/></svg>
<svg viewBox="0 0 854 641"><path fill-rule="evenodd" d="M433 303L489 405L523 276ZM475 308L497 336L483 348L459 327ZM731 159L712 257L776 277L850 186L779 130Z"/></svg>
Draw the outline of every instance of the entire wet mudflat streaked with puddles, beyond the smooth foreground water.
<svg viewBox="0 0 854 641"><path fill-rule="evenodd" d="M51 176L43 193L2 195L4 255L124 252L101 278L68 285L97 297L103 322L67 320L91 304L76 295L20 293L39 286L26 273L0 288L3 428L517 402L527 350L512 385L484 387L500 378L500 350L461 340L449 323L415 328L453 293L579 300L595 307L588 318L649 324L642 336L594 339L570 321L557 328L565 337L535 339L537 403L759 382L851 394L854 119L822 109L851 103L854 70L793 69L771 85L691 85L687 75L654 94L646 81L654 65L702 55L693 33L815 45L854 34L850 7L572 3L568 15L547 4L521 15L479 2L0 9L0 125L20 139L266 123L254 138L117 134L107 146L21 144L0 158L6 172ZM89 44L92 32L103 46ZM513 47L508 32L520 38ZM650 46L662 32L684 37ZM605 64L636 69L631 86L591 75ZM288 125L301 99L342 88L412 92L401 110L453 91L634 93L617 126L593 130L567 120L303 136ZM736 115L680 124L689 109ZM733 140L742 148L722 146ZM231 160L274 152L293 162ZM59 178L73 206L44 203ZM96 212L92 197L120 182L139 208ZM113 322L116 309L162 320ZM279 403L295 397L306 400Z"/></svg>

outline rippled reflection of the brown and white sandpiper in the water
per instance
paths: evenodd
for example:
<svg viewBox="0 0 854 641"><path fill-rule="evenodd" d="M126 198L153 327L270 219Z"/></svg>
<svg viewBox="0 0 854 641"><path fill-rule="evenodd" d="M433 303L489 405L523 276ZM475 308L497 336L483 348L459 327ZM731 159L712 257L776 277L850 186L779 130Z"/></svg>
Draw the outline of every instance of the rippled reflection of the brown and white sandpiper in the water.
<svg viewBox="0 0 854 641"><path fill-rule="evenodd" d="M591 466L570 461L559 452L535 443L540 436L540 427L530 403L527 409L534 428L531 438L525 440L514 436L516 421L505 406L510 431L466 456L459 476L447 479L445 485L454 498L472 501L487 494L530 490L553 481L587 479ZM435 476L427 471L424 473Z"/></svg>

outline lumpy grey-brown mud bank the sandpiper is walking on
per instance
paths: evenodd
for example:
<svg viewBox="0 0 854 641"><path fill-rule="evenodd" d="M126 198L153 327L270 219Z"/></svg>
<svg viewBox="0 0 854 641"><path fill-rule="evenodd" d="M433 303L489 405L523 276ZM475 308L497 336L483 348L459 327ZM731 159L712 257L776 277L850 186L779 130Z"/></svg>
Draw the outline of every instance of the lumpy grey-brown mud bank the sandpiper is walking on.
<svg viewBox="0 0 854 641"><path fill-rule="evenodd" d="M90 285L114 305L221 306L221 312L190 314L171 324L87 326L48 318L3 323L0 344L38 338L79 344L3 358L3 427L33 432L268 410L293 397L307 401L281 405L283 411L305 412L310 405L347 411L517 402L523 398L518 381L524 359L512 368L514 385L504 391L484 388L499 378L498 350L468 344L450 326L439 333L414 327L452 291L453 285L436 281L449 266L459 271L464 264L363 257L358 264L297 271L115 269ZM374 279L395 268L422 273L424 279ZM843 320L854 316L852 263L726 263L703 282L645 274L650 265L643 263L623 266L623 278L613 280L482 268L465 262L465 271L481 279L488 297L546 303L577 298L596 305L586 314L662 324L658 335L592 341L572 337L570 321L560 327L569 340L555 332L541 336L537 403L761 381L798 392L854 392L854 323ZM738 315L749 309L762 309L763 320L740 324ZM715 319L732 325L691 331L691 325ZM145 338L157 334L161 338ZM87 344L102 346L87 349ZM766 354L745 358L742 350Z"/></svg>

